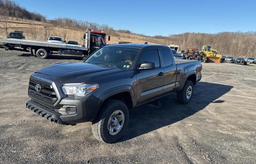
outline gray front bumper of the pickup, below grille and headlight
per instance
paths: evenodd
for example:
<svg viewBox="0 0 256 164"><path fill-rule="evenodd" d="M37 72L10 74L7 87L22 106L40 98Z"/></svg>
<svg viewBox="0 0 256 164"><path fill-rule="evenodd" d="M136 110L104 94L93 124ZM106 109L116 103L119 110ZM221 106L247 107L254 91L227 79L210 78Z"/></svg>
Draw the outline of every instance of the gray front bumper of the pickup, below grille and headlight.
<svg viewBox="0 0 256 164"><path fill-rule="evenodd" d="M29 100L26 107L48 121L74 125L93 121L100 109L100 102L96 97L90 95L89 97L67 97L62 99L60 109L51 109L33 100ZM70 107L73 109L72 111L69 111Z"/></svg>

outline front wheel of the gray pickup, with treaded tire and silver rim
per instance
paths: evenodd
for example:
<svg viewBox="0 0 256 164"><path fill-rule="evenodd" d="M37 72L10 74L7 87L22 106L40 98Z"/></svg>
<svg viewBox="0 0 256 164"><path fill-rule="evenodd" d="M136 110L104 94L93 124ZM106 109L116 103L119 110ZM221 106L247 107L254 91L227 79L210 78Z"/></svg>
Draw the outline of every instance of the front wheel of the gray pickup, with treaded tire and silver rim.
<svg viewBox="0 0 256 164"><path fill-rule="evenodd" d="M118 122L119 117L115 117L114 113L118 113L119 116L122 115L122 121ZM113 120L115 120L113 126L115 126L115 123L116 125L119 124L121 127L120 130L112 128L114 130L111 132L110 128L113 127L111 126L111 121ZM92 133L101 142L113 143L123 136L128 125L128 120L129 111L127 106L120 100L108 100L102 106L100 114L92 122Z"/></svg>

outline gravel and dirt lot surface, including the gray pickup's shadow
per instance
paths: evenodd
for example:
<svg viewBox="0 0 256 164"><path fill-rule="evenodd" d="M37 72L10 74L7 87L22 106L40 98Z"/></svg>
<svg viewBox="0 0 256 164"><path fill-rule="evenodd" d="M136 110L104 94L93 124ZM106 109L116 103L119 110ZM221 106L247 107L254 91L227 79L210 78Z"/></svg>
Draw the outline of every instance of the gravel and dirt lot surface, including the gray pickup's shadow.
<svg viewBox="0 0 256 164"><path fill-rule="evenodd" d="M50 123L26 109L30 75L80 57L0 49L0 163L255 163L256 66L203 63L188 105L176 94L130 111L124 136L105 144L91 123Z"/></svg>

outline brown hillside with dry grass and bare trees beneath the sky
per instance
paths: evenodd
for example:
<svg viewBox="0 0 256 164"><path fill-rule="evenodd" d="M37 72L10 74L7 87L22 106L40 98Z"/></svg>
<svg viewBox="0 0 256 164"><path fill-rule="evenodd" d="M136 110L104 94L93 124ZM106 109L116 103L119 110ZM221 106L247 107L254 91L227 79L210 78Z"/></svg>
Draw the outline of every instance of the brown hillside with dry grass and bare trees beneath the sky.
<svg viewBox="0 0 256 164"><path fill-rule="evenodd" d="M117 20L118 21L118 20ZM177 27L178 28L178 27ZM86 29L104 31L112 37L110 43L128 41L132 43L148 43L179 45L179 50L195 47L199 50L203 45L212 45L218 53L226 56L256 57L256 32L222 32L217 34L184 33L170 36L146 36L135 34L130 30L114 28L88 21L70 18L46 20L41 14L30 12L14 1L0 0L0 38L6 38L8 32L24 31L26 39L44 41L50 35L60 36L64 40L77 40L82 44L83 32Z"/></svg>

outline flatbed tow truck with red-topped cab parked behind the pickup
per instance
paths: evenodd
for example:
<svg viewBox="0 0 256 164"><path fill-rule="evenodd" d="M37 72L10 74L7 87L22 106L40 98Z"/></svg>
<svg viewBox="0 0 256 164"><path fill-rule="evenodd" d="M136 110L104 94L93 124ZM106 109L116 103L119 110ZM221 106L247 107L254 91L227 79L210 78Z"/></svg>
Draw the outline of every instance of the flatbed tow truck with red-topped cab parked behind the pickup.
<svg viewBox="0 0 256 164"><path fill-rule="evenodd" d="M108 36L108 40L110 40L110 36ZM105 45L106 34L104 32L97 32L94 30L84 32L82 47L66 43L53 43L35 40L0 40L0 48L4 48L5 50L30 52L31 55L34 55L35 53L36 56L41 59L46 58L50 54L76 55L82 56L83 59L86 59L91 53Z"/></svg>

